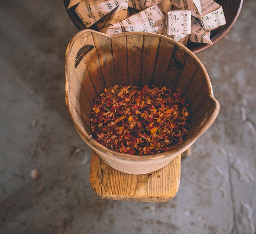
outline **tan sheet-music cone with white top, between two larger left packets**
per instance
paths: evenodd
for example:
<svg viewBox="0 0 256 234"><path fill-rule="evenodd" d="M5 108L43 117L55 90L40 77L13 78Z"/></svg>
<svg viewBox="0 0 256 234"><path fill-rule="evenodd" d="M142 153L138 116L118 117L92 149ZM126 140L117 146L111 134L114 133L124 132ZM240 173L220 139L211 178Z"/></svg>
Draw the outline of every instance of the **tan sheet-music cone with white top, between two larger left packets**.
<svg viewBox="0 0 256 234"><path fill-rule="evenodd" d="M120 5L116 9L114 9L114 11L110 14L111 15L105 22L104 27L100 28L99 31L101 33L112 35L112 32L109 31L108 28L129 17L128 0L121 2Z"/></svg>

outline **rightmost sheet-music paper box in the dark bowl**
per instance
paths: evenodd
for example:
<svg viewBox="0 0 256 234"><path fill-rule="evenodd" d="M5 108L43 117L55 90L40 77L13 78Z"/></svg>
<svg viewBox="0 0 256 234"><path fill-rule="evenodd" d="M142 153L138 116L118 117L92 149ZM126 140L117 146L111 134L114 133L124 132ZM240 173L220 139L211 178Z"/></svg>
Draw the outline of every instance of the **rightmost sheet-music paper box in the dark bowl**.
<svg viewBox="0 0 256 234"><path fill-rule="evenodd" d="M202 0L202 24L205 30L212 30L226 24L222 6L213 0Z"/></svg>

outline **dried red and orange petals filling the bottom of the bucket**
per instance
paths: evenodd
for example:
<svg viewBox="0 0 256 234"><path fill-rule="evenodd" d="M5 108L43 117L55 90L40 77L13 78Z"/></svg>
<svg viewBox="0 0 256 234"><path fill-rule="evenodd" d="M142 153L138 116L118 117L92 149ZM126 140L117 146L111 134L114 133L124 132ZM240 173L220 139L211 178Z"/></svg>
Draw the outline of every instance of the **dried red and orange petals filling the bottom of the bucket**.
<svg viewBox="0 0 256 234"><path fill-rule="evenodd" d="M113 86L92 107L92 137L116 152L150 155L174 149L188 133L186 97L166 87Z"/></svg>

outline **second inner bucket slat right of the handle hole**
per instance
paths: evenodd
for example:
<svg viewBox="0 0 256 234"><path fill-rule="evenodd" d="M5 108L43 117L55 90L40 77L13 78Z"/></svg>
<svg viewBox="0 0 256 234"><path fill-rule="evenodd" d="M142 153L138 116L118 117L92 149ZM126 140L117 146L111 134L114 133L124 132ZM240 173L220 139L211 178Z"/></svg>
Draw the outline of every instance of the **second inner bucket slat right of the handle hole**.
<svg viewBox="0 0 256 234"><path fill-rule="evenodd" d="M111 38L118 85L128 85L126 36Z"/></svg>

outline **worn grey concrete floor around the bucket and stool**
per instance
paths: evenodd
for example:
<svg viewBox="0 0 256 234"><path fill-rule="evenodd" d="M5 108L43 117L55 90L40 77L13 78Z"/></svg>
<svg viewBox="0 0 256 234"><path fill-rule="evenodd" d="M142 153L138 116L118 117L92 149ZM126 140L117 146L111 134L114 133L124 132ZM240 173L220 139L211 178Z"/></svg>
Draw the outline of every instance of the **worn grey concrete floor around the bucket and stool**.
<svg viewBox="0 0 256 234"><path fill-rule="evenodd" d="M64 102L63 2L0 2L0 233L256 233L256 4L198 54L221 112L167 203L99 199ZM78 148L79 155L72 151ZM32 169L41 177L33 181Z"/></svg>

